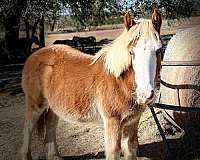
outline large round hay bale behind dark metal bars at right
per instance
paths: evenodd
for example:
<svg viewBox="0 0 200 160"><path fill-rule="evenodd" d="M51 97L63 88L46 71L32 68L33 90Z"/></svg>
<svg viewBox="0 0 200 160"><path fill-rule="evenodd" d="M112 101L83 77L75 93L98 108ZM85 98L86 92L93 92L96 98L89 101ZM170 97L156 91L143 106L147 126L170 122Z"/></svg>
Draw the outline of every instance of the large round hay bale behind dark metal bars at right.
<svg viewBox="0 0 200 160"><path fill-rule="evenodd" d="M200 26L179 30L169 41L164 61L200 61ZM160 102L178 106L200 106L200 66L164 66ZM167 111L183 129L200 120L200 114Z"/></svg>

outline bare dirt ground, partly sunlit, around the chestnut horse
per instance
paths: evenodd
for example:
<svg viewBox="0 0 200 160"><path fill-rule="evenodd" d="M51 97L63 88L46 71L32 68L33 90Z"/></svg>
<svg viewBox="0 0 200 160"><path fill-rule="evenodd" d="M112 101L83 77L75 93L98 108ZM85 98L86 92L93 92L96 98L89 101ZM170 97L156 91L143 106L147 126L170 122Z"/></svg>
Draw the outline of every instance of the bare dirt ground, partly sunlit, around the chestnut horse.
<svg viewBox="0 0 200 160"><path fill-rule="evenodd" d="M168 27L164 24L161 33L174 34L178 28L200 24L199 20L200 18L197 17L192 22L187 20L175 27ZM47 35L46 43L49 45L56 39L71 39L74 35L92 35L98 41L104 38L114 39L121 31L122 29L49 34ZM0 68L0 160L15 160L22 144L25 104L24 94L21 93L20 89L20 76L21 70L16 69L15 66L11 70L9 67ZM195 141L200 139L198 135L195 134L194 141L189 141L189 143L185 144L182 131L178 131L172 126L166 127L168 125L161 111L156 110L156 113L162 127L165 128L165 134L172 145L172 151L176 159L191 160L193 157L198 157L199 155L196 155L196 152L200 149L197 146L200 145L199 143L195 143ZM58 150L66 160L104 159L103 132L103 127L98 124L78 125L59 120L57 128ZM148 109L141 118L138 136L140 144L139 156L141 160L147 158L152 160L165 159L162 139ZM192 146L195 147L193 148ZM32 141L32 156L34 160L45 159L44 145L36 133L34 133Z"/></svg>

